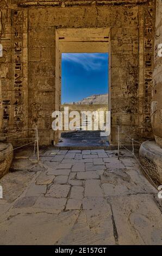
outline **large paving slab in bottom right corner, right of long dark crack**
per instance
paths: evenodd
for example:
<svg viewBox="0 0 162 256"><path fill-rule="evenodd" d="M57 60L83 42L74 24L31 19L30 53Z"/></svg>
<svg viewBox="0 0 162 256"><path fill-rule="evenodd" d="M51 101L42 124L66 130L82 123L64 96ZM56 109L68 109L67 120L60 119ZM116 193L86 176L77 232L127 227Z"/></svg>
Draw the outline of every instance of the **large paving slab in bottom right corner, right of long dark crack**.
<svg viewBox="0 0 162 256"><path fill-rule="evenodd" d="M150 194L110 197L120 245L162 245L161 212Z"/></svg>

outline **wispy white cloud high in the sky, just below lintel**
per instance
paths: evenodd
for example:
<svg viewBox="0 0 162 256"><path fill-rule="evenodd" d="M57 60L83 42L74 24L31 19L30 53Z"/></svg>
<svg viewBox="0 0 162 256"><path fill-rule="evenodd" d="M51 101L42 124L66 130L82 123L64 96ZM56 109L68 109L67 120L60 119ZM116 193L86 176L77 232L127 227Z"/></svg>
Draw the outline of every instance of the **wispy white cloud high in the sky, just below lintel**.
<svg viewBox="0 0 162 256"><path fill-rule="evenodd" d="M107 54L103 53L63 53L62 60L82 65L85 70L102 69Z"/></svg>

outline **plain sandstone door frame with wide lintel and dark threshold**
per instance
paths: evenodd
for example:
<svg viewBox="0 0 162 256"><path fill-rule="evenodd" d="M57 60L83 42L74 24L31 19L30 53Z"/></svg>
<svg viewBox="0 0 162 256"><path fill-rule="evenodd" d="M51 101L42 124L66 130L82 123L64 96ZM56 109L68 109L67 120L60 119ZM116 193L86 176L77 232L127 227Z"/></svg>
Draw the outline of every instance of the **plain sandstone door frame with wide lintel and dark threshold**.
<svg viewBox="0 0 162 256"><path fill-rule="evenodd" d="M56 29L55 32L56 38L56 47L55 47L55 109L61 110L61 54L63 53L109 53L110 56L110 44L109 44L109 28L66 28L66 29ZM110 58L109 58L110 59ZM109 61L109 69L110 72L110 61ZM110 82L110 74L109 74L109 82ZM110 83L109 86L109 107L110 109ZM82 106L79 106L82 107ZM85 107L84 107L85 108ZM84 109L83 111L87 111ZM80 108L81 109L81 108ZM80 111L79 109L79 111ZM107 109L107 110L108 110ZM72 109L76 110L76 109ZM78 109L77 109L78 110ZM67 139L67 136L61 136L61 132L55 132L54 144L59 147L73 147L73 139L76 138L76 144L78 140L80 141L80 136L83 137L83 147L103 147L102 141L104 140L104 145L109 144L108 138L99 138L98 132L76 132L75 136L70 135L70 139ZM59 142L60 137L63 137L66 142ZM88 137L90 141L87 142ZM96 138L97 142L94 141ZM62 143L63 142L63 143Z"/></svg>

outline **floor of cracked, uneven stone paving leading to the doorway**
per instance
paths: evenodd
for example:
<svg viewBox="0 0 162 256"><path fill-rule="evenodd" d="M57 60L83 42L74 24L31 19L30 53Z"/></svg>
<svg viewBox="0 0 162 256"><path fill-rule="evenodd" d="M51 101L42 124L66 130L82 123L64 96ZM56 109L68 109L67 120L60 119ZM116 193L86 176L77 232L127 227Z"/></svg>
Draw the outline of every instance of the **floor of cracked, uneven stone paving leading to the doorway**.
<svg viewBox="0 0 162 256"><path fill-rule="evenodd" d="M18 151L0 180L0 244L162 244L158 191L127 151Z"/></svg>

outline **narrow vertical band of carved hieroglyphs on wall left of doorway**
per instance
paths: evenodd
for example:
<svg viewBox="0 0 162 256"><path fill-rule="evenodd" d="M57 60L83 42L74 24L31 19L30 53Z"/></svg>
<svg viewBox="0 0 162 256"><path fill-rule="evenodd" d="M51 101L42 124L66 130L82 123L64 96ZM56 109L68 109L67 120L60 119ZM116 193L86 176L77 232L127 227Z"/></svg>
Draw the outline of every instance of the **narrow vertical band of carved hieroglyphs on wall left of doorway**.
<svg viewBox="0 0 162 256"><path fill-rule="evenodd" d="M13 11L13 74L14 74L14 124L23 123L23 11Z"/></svg>

